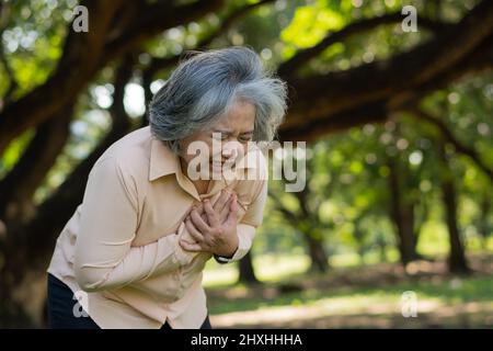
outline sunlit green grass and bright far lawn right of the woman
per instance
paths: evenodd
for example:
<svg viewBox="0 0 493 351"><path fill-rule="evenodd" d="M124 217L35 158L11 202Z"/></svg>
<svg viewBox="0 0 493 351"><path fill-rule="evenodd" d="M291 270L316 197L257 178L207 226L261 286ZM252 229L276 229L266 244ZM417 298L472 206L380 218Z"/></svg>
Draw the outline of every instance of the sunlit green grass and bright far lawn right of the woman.
<svg viewBox="0 0 493 351"><path fill-rule="evenodd" d="M254 260L257 276L263 281L262 287L246 287L233 285L237 280L234 265L219 265L215 262L208 263L205 272L205 286L208 291L208 305L211 316L216 316L216 324L221 325L221 318L233 318L236 322L249 320L253 325L257 322L261 327L279 326L283 318L291 317L289 322L301 322L300 320L312 318L335 318L340 320L329 322L330 326L351 325L351 318L355 316L369 316L367 327L375 325L426 327L423 321L436 324L440 327L485 327L493 325L493 275L475 274L468 278L433 274L429 276L406 279L403 276L395 283L386 282L378 278L362 286L347 285L341 280L330 281L341 271L344 276L365 274L374 270L374 265L357 267L359 260L354 256L332 259L333 273L313 275L305 273L309 267L306 256L264 256ZM356 267L356 268L355 268ZM389 265L391 267L391 265ZM370 275L368 275L370 276ZM309 286L290 293L274 293L280 285L296 282L326 281L320 286ZM329 282L329 283L328 283ZM412 291L416 294L420 314L423 316L420 324L405 324L401 315L402 294ZM242 314L244 316L242 316ZM237 316L239 315L239 316ZM276 317L279 315L278 317ZM271 316L271 317L270 317ZM284 317L283 317L284 316ZM466 317L463 317L466 316ZM472 317L471 317L472 316ZM237 318L237 319L234 319ZM268 319L271 318L271 319ZM433 318L438 318L431 321ZM442 318L442 319L440 319ZM445 318L445 319L444 319ZM405 318L404 318L405 319ZM343 322L342 322L342 321ZM380 320L380 321L378 321ZM467 320L467 321L465 321ZM360 322L359 322L360 324ZM296 326L296 325L294 325ZM308 326L317 328L318 325ZM322 325L323 326L323 325Z"/></svg>

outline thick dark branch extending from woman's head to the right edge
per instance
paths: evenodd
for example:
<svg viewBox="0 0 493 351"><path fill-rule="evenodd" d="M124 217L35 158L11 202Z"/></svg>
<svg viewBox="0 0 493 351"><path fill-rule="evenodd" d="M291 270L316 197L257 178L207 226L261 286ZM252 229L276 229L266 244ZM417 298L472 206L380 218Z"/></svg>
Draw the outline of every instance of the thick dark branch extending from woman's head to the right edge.
<svg viewBox="0 0 493 351"><path fill-rule="evenodd" d="M293 78L289 83L296 92L291 95L295 103L282 128L302 128L313 120L328 121L378 101L383 101L389 111L400 109L424 87L433 87L438 81L446 83L450 81L446 79L474 71L477 68L469 66L473 63L469 58L472 55L478 55L479 60L490 57L483 44L492 35L493 2L483 1L454 25L454 30L388 60L326 75Z"/></svg>

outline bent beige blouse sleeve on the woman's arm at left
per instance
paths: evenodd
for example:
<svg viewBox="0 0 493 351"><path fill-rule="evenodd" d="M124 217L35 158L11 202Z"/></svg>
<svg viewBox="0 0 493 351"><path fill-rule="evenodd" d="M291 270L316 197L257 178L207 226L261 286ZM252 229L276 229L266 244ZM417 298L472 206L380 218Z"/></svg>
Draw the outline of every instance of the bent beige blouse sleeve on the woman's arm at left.
<svg viewBox="0 0 493 351"><path fill-rule="evenodd" d="M175 234L131 247L139 218L137 182L115 158L99 160L92 169L82 203L74 252L76 279L85 291L122 287L185 265L196 256L184 251Z"/></svg>

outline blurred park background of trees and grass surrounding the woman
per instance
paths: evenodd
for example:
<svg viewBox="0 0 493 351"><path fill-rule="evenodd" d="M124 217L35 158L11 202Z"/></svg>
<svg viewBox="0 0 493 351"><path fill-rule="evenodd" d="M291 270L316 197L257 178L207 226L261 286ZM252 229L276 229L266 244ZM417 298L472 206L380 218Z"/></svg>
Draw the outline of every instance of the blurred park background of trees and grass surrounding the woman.
<svg viewBox="0 0 493 351"><path fill-rule="evenodd" d="M1 0L0 327L46 327L92 165L186 50L248 45L289 86L307 186L271 180L251 253L208 263L213 325L491 328L492 44L489 0Z"/></svg>

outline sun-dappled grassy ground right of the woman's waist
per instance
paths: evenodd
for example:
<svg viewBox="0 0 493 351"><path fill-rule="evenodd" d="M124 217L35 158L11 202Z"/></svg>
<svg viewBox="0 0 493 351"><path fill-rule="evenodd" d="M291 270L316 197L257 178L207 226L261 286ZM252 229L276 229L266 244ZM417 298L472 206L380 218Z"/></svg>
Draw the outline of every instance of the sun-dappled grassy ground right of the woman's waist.
<svg viewBox="0 0 493 351"><path fill-rule="evenodd" d="M492 328L493 258L470 262L468 276L448 274L444 261L419 261L406 271L377 263L250 287L209 284L210 320L217 328Z"/></svg>

